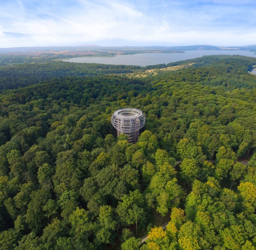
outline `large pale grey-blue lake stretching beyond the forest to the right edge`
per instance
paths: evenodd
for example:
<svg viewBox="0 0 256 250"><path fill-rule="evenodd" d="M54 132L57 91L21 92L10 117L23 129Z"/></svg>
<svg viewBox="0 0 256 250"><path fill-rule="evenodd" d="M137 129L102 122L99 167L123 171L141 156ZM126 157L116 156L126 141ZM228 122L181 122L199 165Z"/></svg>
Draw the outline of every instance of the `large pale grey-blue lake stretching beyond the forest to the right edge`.
<svg viewBox="0 0 256 250"><path fill-rule="evenodd" d="M63 61L147 66L193 59L202 57L203 55L245 55L256 57L256 54L254 53L255 52L244 50L192 50L186 51L185 53L146 53L135 55L117 55L116 57L75 57Z"/></svg>

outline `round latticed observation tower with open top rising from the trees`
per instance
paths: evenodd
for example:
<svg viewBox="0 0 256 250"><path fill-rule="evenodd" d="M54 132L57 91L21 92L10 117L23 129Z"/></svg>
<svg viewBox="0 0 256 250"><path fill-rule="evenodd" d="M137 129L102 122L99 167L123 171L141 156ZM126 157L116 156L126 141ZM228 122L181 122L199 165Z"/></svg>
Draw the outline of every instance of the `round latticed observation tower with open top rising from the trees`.
<svg viewBox="0 0 256 250"><path fill-rule="evenodd" d="M118 109L113 113L111 123L117 130L118 136L126 134L130 143L136 143L140 129L145 125L145 115L140 109Z"/></svg>

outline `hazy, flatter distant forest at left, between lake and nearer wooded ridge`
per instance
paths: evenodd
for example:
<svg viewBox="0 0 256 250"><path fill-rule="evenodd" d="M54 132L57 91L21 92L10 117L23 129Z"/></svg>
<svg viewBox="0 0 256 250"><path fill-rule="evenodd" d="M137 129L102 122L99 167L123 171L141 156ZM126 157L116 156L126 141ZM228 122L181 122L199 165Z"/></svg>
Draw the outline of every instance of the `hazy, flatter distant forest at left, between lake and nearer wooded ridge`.
<svg viewBox="0 0 256 250"><path fill-rule="evenodd" d="M54 77L75 76L84 78L106 74L132 73L138 69L141 67L62 61L8 64L0 66L0 91L38 84Z"/></svg>

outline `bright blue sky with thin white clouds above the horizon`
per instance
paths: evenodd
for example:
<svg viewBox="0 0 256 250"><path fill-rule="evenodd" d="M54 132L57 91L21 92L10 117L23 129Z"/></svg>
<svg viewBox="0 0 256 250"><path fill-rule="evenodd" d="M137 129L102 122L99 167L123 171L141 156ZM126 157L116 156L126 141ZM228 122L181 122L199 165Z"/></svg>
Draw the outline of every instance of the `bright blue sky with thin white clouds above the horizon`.
<svg viewBox="0 0 256 250"><path fill-rule="evenodd" d="M0 0L0 48L256 44L255 0Z"/></svg>

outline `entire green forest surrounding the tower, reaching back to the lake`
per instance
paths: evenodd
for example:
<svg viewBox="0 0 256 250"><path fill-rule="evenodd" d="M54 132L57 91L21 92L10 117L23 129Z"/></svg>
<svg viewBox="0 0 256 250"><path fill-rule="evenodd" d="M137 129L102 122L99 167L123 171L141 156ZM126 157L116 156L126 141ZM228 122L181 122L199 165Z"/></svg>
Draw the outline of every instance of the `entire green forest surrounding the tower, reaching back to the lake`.
<svg viewBox="0 0 256 250"><path fill-rule="evenodd" d="M255 250L256 59L155 68L188 62L1 66L0 249ZM136 144L121 107L145 113Z"/></svg>

